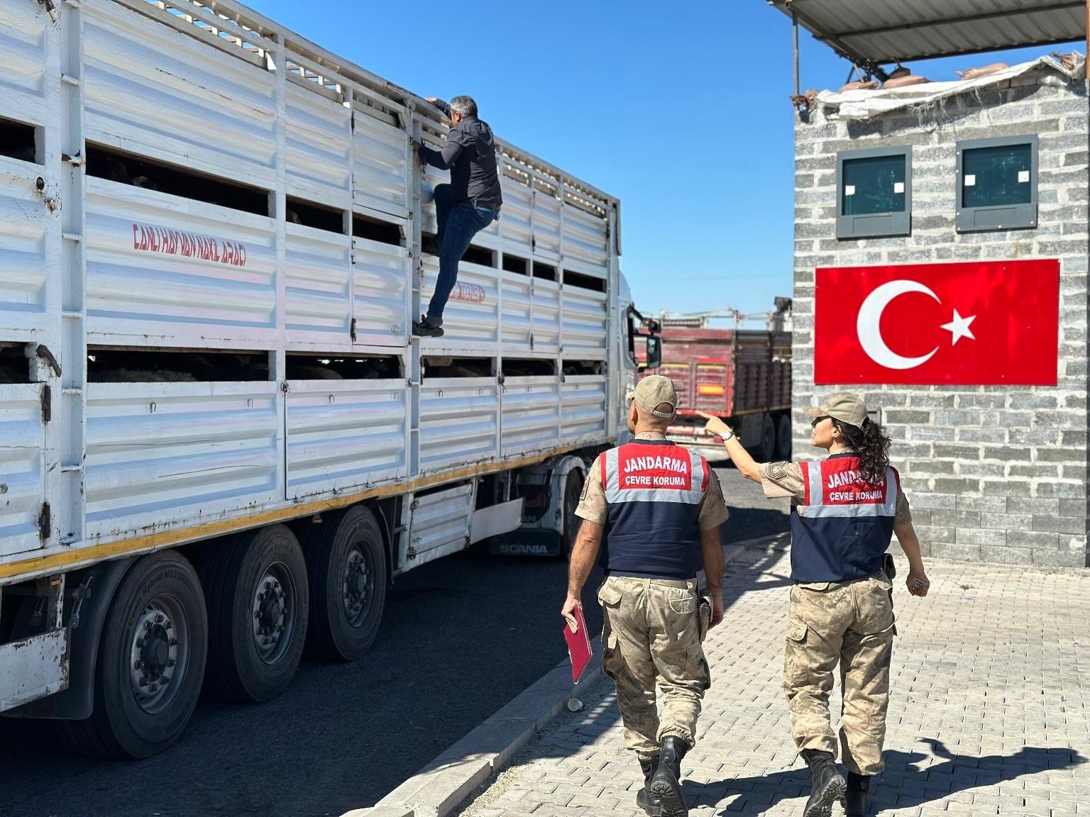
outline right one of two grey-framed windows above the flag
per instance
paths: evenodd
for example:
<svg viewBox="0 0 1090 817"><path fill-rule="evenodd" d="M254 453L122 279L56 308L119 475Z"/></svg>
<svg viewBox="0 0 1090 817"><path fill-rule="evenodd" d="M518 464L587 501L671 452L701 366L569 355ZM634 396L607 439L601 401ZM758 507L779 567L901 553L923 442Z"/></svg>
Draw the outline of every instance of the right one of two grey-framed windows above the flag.
<svg viewBox="0 0 1090 817"><path fill-rule="evenodd" d="M957 145L958 232L1037 227L1037 136Z"/></svg>

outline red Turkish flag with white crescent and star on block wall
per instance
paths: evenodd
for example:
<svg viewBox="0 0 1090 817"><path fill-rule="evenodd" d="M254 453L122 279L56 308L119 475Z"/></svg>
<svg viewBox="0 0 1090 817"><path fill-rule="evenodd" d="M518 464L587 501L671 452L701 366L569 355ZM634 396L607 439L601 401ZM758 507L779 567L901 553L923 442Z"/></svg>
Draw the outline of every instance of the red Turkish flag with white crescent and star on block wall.
<svg viewBox="0 0 1090 817"><path fill-rule="evenodd" d="M814 382L1055 386L1059 261L814 271Z"/></svg>

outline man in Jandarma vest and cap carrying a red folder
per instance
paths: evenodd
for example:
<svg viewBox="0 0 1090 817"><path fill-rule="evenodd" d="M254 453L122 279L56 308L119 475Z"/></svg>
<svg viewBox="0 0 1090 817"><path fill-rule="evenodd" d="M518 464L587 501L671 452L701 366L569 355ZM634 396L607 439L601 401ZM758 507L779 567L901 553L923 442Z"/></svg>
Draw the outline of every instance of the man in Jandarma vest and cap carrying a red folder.
<svg viewBox="0 0 1090 817"><path fill-rule="evenodd" d="M712 682L701 642L723 620L719 525L728 514L707 461L666 439L678 403L674 383L646 377L629 398L628 427L635 437L601 454L588 476L561 614L573 627L601 546L602 662L617 686L625 745L643 770L637 803L650 815L683 817L681 758L695 742L700 703ZM701 564L706 605L697 588Z"/></svg>

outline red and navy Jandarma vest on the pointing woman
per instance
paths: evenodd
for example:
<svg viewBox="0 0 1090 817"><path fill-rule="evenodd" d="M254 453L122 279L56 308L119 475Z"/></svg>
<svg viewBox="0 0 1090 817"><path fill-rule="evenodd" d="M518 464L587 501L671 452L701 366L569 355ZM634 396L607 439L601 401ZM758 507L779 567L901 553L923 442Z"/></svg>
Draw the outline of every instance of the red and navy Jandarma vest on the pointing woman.
<svg viewBox="0 0 1090 817"><path fill-rule="evenodd" d="M791 581L847 582L882 569L897 515L900 477L858 480L859 458L799 463L806 497L791 514Z"/></svg>

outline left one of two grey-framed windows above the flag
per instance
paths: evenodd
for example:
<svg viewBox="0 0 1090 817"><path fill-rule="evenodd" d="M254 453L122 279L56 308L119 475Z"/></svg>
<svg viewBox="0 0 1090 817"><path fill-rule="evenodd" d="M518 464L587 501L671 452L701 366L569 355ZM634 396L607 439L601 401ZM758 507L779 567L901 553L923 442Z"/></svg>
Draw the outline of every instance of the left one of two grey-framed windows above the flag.
<svg viewBox="0 0 1090 817"><path fill-rule="evenodd" d="M912 148L844 150L836 155L836 237L908 235Z"/></svg>

